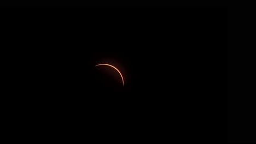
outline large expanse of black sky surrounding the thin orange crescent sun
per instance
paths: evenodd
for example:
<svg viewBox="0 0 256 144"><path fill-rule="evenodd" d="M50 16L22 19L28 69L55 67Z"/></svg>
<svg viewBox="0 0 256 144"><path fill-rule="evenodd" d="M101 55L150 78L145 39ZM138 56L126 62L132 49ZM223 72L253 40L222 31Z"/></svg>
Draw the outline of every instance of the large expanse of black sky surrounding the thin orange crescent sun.
<svg viewBox="0 0 256 144"><path fill-rule="evenodd" d="M23 47L5 60L14 63L8 73L18 86L9 109L22 122L76 133L104 127L226 141L226 13L54 13L7 22L7 47ZM124 86L117 71L99 63L117 65Z"/></svg>

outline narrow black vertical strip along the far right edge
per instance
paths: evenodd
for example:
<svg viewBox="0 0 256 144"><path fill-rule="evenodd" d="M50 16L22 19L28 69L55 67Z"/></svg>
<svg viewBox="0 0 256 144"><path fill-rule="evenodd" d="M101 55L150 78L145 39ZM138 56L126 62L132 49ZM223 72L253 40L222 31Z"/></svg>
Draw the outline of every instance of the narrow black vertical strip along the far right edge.
<svg viewBox="0 0 256 144"><path fill-rule="evenodd" d="M243 11L241 13L241 11ZM254 73L252 47L252 9L229 8L228 13L228 140L255 141ZM245 35L245 36L242 36ZM249 48L250 49L250 48Z"/></svg>

